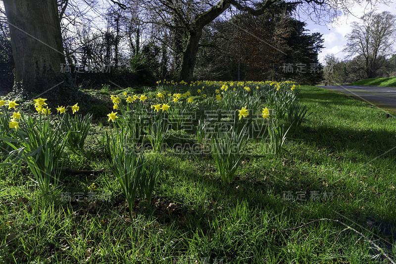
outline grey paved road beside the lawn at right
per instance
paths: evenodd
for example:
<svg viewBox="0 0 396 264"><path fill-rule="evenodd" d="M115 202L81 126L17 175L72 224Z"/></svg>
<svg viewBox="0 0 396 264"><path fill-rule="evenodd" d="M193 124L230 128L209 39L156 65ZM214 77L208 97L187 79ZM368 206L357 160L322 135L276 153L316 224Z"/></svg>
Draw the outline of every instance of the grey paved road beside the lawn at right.
<svg viewBox="0 0 396 264"><path fill-rule="evenodd" d="M376 86L319 86L337 91L367 103L396 109L396 88Z"/></svg>

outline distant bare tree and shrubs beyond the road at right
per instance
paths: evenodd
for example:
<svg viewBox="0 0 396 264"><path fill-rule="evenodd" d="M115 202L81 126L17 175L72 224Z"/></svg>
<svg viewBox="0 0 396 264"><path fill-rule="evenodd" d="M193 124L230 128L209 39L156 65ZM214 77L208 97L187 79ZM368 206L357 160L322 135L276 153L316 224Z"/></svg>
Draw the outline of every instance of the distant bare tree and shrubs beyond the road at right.
<svg viewBox="0 0 396 264"><path fill-rule="evenodd" d="M344 52L347 59L334 54L324 58L324 83L352 83L376 77L396 77L396 15L371 11L352 22Z"/></svg>

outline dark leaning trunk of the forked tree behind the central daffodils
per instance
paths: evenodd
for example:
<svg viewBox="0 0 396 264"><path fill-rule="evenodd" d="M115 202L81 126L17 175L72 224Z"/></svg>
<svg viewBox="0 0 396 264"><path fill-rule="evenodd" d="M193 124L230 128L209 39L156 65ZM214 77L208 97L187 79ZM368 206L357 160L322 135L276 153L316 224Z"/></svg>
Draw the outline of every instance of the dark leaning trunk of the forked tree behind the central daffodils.
<svg viewBox="0 0 396 264"><path fill-rule="evenodd" d="M190 32L187 40L186 50L183 54L183 64L180 71L180 81L191 82L193 80L194 66L197 59L199 39L202 29Z"/></svg>

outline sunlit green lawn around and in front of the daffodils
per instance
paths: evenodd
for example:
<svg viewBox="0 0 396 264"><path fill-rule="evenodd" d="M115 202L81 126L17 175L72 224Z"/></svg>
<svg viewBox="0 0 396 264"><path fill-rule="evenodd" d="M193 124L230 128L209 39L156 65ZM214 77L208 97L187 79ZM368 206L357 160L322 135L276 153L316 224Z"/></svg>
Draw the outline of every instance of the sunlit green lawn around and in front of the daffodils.
<svg viewBox="0 0 396 264"><path fill-rule="evenodd" d="M26 170L14 176L0 168L0 264L389 263L335 222L276 231L307 218L337 219L396 256L396 119L319 87L302 86L299 99L313 113L289 135L288 152L247 157L234 183L222 184L210 155L167 150L152 208L133 218L109 168L63 175L63 186L43 198ZM95 125L92 133L103 129ZM68 155L67 165L105 167L99 137L89 135L86 153ZM87 198L92 183L96 203L62 201L65 193ZM287 192L306 201L285 200Z"/></svg>

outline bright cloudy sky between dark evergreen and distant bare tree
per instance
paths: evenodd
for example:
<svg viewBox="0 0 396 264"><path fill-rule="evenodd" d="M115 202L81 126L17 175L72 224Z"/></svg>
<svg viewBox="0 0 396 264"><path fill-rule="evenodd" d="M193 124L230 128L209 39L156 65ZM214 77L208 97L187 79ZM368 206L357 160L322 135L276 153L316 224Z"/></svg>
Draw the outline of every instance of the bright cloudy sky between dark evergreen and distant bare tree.
<svg viewBox="0 0 396 264"><path fill-rule="evenodd" d="M390 11L392 14L396 15L396 2L390 3L389 5L377 4L373 9L375 9L377 13ZM323 63L323 57L328 53L333 53L336 57L345 59L347 55L346 53L343 53L344 46L347 43L345 35L350 33L352 30L351 22L359 21L359 17L370 10L372 10L370 5L366 5L364 3L361 5L356 4L351 9L353 16L340 15L333 23L322 23L322 25L319 25L309 20L305 21L305 23L307 23L306 29L310 30L311 33L319 32L323 34L323 46L325 48L322 49L321 53L319 53L320 62Z"/></svg>

